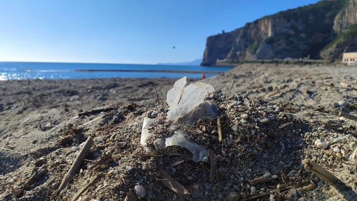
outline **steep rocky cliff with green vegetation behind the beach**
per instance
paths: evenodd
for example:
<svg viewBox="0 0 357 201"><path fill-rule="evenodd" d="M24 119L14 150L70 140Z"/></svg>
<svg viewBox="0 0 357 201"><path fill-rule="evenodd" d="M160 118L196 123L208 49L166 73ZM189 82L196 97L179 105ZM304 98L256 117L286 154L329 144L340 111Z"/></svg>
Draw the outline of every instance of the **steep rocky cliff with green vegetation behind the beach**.
<svg viewBox="0 0 357 201"><path fill-rule="evenodd" d="M211 36L201 65L215 65L218 60L341 56L346 47L354 49L353 43L357 44L357 35L353 35L357 30L356 6L357 0L320 1Z"/></svg>

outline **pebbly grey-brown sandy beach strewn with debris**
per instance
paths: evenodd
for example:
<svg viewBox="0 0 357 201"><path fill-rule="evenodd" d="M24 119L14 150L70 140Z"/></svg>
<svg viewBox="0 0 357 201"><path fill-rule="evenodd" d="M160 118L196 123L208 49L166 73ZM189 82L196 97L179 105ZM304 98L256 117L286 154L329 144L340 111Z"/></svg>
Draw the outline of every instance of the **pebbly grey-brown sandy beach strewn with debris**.
<svg viewBox="0 0 357 201"><path fill-rule="evenodd" d="M212 150L216 170L210 162L149 155L140 146L144 117L165 125L166 93L175 81L0 81L0 200L357 198L357 121L338 116L357 113L356 66L245 64L188 79L216 91L211 100L223 141L217 117L182 128L188 139ZM106 110L93 110L98 108ZM93 147L59 193L88 137ZM329 170L338 179L335 187L307 171L306 159ZM162 171L186 191L167 188Z"/></svg>

